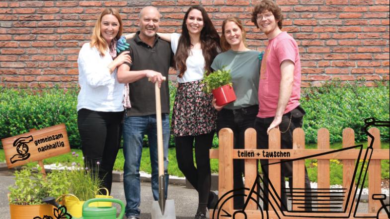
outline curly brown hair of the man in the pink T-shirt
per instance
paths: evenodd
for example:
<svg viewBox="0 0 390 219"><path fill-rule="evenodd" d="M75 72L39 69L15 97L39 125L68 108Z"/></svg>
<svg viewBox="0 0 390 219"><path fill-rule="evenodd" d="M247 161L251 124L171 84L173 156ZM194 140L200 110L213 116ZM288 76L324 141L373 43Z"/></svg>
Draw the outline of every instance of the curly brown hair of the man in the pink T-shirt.
<svg viewBox="0 0 390 219"><path fill-rule="evenodd" d="M272 0L262 0L256 4L256 6L254 6L251 18L251 21L254 23L254 25L256 25L257 28L259 27L259 24L257 23L257 14L263 13L266 10L274 15L275 19L278 20L279 29L282 29L282 9L280 9L280 7Z"/></svg>

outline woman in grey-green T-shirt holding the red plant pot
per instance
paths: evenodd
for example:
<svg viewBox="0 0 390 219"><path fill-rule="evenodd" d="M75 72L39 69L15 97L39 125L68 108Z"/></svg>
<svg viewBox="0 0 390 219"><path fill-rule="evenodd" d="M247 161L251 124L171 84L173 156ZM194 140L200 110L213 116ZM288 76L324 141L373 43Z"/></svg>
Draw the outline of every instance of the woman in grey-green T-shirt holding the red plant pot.
<svg viewBox="0 0 390 219"><path fill-rule="evenodd" d="M217 131L231 128L234 132L234 149L244 146L244 132L254 128L254 120L258 112L258 86L260 60L262 53L246 47L245 30L241 21L236 17L224 20L222 24L221 47L223 53L217 55L211 67L214 70L225 68L231 70L233 89L237 100L224 106L213 106L218 110ZM234 160L234 189L243 188L242 176L244 161ZM243 194L244 190L234 192ZM234 209L242 209L243 195L234 197Z"/></svg>

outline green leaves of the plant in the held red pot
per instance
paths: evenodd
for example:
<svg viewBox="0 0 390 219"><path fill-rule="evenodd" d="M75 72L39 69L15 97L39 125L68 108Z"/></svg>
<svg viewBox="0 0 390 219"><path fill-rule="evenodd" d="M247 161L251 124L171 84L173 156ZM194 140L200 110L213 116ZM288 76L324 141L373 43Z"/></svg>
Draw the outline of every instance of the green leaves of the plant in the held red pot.
<svg viewBox="0 0 390 219"><path fill-rule="evenodd" d="M219 69L211 72L210 74L205 71L202 83L205 84L203 91L206 93L211 93L214 89L227 84L232 86L232 76L230 74L230 70L226 70L225 67L223 67L222 70Z"/></svg>

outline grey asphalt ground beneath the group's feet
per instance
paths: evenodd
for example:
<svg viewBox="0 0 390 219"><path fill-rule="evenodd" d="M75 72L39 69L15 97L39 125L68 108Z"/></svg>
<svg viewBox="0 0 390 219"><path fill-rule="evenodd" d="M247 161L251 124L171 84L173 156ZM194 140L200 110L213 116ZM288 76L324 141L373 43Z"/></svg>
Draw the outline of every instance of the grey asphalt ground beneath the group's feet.
<svg viewBox="0 0 390 219"><path fill-rule="evenodd" d="M9 205L7 199L8 186L14 183L12 172L8 170L0 171L0 219L9 219ZM122 182L113 182L111 195L122 200L124 204L125 195ZM150 182L141 183L141 218L151 219L151 206L153 195ZM177 219L193 219L197 209L198 193L195 189L186 188L185 185L169 184L168 199L173 199L175 204L175 214ZM261 204L262 206L262 204ZM361 202L358 212L366 213L368 204ZM117 210L119 212L119 209Z"/></svg>

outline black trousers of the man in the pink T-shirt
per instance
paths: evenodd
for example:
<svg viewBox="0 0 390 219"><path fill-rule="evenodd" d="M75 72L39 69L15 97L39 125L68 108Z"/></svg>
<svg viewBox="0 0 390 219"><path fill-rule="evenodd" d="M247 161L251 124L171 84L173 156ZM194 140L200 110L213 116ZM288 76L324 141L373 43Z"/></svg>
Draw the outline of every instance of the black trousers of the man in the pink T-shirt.
<svg viewBox="0 0 390 219"><path fill-rule="evenodd" d="M281 131L281 148L282 149L292 149L293 148L293 131L295 128L301 128L303 123L303 116L305 110L300 106L296 109L291 110L282 117L282 122L279 124L279 130ZM256 117L255 128L257 132L257 149L268 149L268 135L267 129L269 125L274 120L274 117L268 118L259 118ZM291 120L291 121L290 121ZM268 210L268 160L260 160L260 164L263 169L263 182L264 182L264 211ZM264 166L265 165L265 166ZM289 187L293 188L293 163L284 162L281 163L281 199L282 199L282 210L287 210L287 197L285 192L285 177L289 178ZM310 180L308 176L308 171L305 167L305 189L310 191ZM290 190L291 192L291 190ZM310 199L310 198L307 198ZM311 201L305 201L305 210L311 210Z"/></svg>

